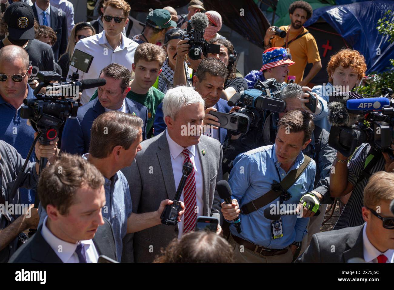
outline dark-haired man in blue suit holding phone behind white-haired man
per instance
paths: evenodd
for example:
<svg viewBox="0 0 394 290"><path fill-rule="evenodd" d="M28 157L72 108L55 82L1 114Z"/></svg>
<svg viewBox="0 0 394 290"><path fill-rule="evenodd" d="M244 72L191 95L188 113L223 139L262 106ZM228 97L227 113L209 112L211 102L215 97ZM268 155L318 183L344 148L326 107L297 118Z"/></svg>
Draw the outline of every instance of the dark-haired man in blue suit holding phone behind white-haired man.
<svg viewBox="0 0 394 290"><path fill-rule="evenodd" d="M197 72L193 78L195 90L203 97L205 101L205 119L204 125L212 125L204 132L204 135L219 140L223 145L227 137L227 129L216 127L220 125L218 119L209 114L210 111L228 113L231 107L227 101L221 99L224 89L224 82L227 76L227 67L223 62L216 58L206 58L201 61ZM159 135L165 129L166 125L163 119L163 104L160 104L154 120L154 135Z"/></svg>

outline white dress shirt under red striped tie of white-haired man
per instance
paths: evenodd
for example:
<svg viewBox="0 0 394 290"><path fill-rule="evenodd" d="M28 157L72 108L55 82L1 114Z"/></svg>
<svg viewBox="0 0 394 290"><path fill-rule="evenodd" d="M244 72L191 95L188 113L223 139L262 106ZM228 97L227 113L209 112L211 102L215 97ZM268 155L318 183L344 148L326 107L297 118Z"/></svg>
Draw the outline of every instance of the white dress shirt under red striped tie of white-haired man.
<svg viewBox="0 0 394 290"><path fill-rule="evenodd" d="M184 164L184 155L182 154L182 151L185 149L179 144L177 144L173 139L171 139L170 135L168 135L167 129L165 129L165 135L167 137L167 142L168 142L168 147L170 150L170 155L171 155L171 165L173 168L173 174L174 174L174 181L175 181L175 190L178 189L179 182L182 178L182 168ZM196 152L197 147L195 145L186 147L186 149L189 150L189 157L191 160L191 163L194 165L194 174L195 174L195 181L196 181L196 202L198 206L198 212L197 212L197 217L200 215L203 215L203 206L204 206L204 197L203 197L203 171L202 171L202 166L200 162L200 157L198 152ZM184 196L183 196L183 191L182 195L180 196L179 201L184 201ZM186 210L195 210L194 208L186 208ZM178 239L182 237L183 234L183 223L184 223L184 215L182 215L182 218L180 222L178 223L179 227L179 233L178 233Z"/></svg>

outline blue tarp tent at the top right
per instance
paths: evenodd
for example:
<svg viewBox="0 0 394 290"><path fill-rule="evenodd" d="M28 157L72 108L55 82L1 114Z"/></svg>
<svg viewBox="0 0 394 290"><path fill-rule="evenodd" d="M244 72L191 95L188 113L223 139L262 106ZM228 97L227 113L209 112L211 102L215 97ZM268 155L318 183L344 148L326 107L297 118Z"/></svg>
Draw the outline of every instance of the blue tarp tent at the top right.
<svg viewBox="0 0 394 290"><path fill-rule="evenodd" d="M313 11L304 26L310 26L322 17L349 46L364 55L367 73L380 73L387 71L389 60L394 59L394 43L389 43L389 36L379 34L376 29L378 19L383 18L388 10L394 11L393 1L376 0L322 7ZM394 22L392 15L388 17L390 22Z"/></svg>

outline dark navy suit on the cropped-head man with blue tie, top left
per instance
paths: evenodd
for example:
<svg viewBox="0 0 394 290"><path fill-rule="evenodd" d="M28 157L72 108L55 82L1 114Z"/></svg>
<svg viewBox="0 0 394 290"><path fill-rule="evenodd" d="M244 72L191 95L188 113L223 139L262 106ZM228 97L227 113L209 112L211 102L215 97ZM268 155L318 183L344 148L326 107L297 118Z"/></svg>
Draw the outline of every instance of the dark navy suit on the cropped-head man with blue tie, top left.
<svg viewBox="0 0 394 290"><path fill-rule="evenodd" d="M34 12L34 17L38 21L38 14L37 14L37 9L35 8L35 5L32 6L33 12ZM59 15L60 14L60 15ZM63 53L66 52L67 49L67 40L68 40L68 34L67 34L67 19L66 19L66 14L59 13L58 8L54 6L50 6L50 27L55 31L56 37L58 37L58 40L56 43L52 46L52 51L55 57L55 62L58 61L59 56L61 56ZM74 39L72 40L74 41Z"/></svg>

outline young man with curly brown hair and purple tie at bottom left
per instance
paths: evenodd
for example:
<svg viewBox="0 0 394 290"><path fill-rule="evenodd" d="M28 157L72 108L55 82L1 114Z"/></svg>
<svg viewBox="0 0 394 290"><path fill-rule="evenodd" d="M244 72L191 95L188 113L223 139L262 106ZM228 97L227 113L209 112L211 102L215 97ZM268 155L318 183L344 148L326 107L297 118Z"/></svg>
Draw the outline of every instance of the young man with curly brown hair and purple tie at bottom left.
<svg viewBox="0 0 394 290"><path fill-rule="evenodd" d="M10 263L97 263L100 255L116 260L112 226L101 213L104 177L94 165L62 154L41 172L37 191L48 216Z"/></svg>

